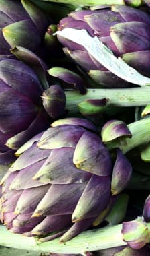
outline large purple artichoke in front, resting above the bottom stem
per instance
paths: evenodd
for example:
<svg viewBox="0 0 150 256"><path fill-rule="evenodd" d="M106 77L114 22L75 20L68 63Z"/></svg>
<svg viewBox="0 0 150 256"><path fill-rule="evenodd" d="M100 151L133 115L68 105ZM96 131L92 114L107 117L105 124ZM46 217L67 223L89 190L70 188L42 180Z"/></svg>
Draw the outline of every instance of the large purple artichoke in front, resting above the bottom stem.
<svg viewBox="0 0 150 256"><path fill-rule="evenodd" d="M1 181L1 220L17 234L68 241L111 209L112 159L90 121L66 118L51 126L17 150L21 156ZM124 160L117 154L117 190L121 170L126 184L130 177Z"/></svg>

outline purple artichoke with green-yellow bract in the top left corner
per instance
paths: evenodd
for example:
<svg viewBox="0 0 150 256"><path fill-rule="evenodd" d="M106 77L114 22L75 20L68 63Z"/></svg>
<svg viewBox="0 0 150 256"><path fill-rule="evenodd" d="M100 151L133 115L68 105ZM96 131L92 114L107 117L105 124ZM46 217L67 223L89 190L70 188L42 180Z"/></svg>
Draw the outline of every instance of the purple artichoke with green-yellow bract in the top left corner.
<svg viewBox="0 0 150 256"><path fill-rule="evenodd" d="M13 57L10 49L23 46L39 52L49 21L31 1L2 0L0 3L0 55Z"/></svg>

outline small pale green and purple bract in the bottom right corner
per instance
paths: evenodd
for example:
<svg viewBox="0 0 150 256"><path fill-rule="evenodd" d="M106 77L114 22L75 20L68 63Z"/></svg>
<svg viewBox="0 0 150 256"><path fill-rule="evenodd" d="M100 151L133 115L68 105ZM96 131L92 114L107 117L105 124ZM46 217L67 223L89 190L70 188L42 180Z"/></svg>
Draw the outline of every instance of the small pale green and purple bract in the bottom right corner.
<svg viewBox="0 0 150 256"><path fill-rule="evenodd" d="M123 222L123 240L133 249L141 249L149 242L149 229L141 217Z"/></svg>

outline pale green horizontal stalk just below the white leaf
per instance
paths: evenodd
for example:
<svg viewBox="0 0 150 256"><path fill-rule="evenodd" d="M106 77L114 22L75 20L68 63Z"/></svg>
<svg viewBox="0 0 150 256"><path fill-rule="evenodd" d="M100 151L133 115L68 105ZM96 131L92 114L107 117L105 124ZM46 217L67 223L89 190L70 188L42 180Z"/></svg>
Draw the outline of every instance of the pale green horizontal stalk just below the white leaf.
<svg viewBox="0 0 150 256"><path fill-rule="evenodd" d="M100 100L106 98L106 106L145 106L150 104L150 87L125 88L125 89L88 89L87 93L82 95L75 90L66 91L66 109L69 113L77 113L78 105L84 100Z"/></svg>

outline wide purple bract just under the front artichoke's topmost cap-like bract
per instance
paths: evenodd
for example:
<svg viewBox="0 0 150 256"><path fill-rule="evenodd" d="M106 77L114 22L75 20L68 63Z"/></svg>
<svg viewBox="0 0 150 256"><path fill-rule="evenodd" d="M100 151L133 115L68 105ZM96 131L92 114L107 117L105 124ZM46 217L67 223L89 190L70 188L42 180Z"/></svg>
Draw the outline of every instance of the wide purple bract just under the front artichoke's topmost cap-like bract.
<svg viewBox="0 0 150 256"><path fill-rule="evenodd" d="M77 125L60 125L58 127L49 128L44 132L40 141L39 148L62 148L75 147L78 139L82 136L85 129Z"/></svg>

